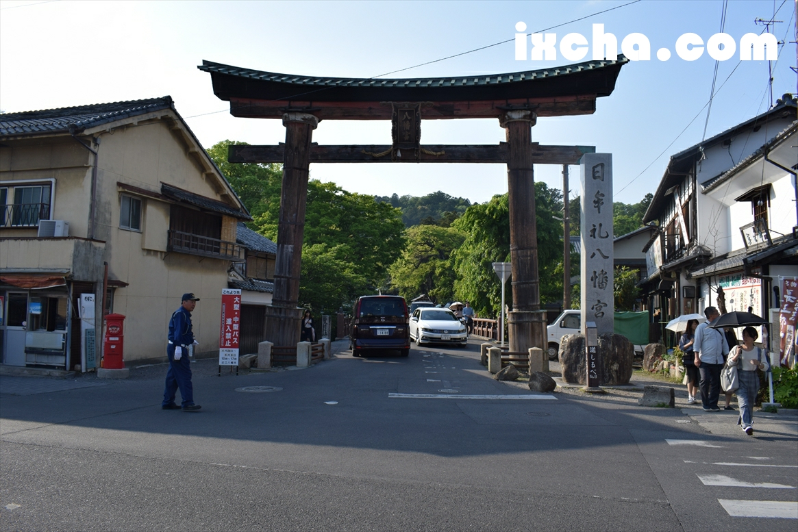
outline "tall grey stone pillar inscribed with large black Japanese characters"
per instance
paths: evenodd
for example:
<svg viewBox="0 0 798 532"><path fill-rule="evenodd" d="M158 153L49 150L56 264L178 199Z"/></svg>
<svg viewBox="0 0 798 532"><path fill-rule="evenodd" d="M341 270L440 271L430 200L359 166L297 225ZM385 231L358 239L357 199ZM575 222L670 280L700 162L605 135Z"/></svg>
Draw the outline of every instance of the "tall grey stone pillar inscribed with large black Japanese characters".
<svg viewBox="0 0 798 532"><path fill-rule="evenodd" d="M612 155L582 157L582 324L595 321L598 333L614 329Z"/></svg>

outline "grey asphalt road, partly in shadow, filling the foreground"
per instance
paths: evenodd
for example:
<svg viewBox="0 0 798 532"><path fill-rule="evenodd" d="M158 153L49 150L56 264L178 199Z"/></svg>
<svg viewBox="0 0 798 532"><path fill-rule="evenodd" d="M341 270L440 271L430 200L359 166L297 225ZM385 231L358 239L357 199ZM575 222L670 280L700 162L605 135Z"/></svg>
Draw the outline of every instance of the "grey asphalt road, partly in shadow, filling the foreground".
<svg viewBox="0 0 798 532"><path fill-rule="evenodd" d="M751 438L734 416L532 394L478 349L199 361L198 413L160 409L165 366L4 376L0 529L796 530L798 417ZM280 389L236 391L259 386Z"/></svg>

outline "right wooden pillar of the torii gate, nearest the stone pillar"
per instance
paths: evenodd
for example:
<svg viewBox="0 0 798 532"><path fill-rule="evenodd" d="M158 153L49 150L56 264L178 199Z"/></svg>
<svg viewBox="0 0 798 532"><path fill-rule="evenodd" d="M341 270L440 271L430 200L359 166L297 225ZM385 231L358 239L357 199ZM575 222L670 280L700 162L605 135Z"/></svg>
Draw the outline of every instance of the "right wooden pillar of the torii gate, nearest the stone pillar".
<svg viewBox="0 0 798 532"><path fill-rule="evenodd" d="M535 175L532 168L531 127L537 116L527 110L508 111L500 117L507 130L508 203L510 207L510 262L512 312L508 316L510 351L546 350L546 313L540 310L538 231L535 218ZM504 309L502 309L504 312Z"/></svg>

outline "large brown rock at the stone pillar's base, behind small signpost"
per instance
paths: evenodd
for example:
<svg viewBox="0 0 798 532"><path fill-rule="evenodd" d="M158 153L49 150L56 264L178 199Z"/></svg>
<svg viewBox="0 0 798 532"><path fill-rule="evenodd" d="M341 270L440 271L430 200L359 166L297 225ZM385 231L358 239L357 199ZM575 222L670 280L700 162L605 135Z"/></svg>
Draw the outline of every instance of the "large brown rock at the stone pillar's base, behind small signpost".
<svg viewBox="0 0 798 532"><path fill-rule="evenodd" d="M634 345L620 334L599 335L599 384L629 384L632 377ZM559 365L563 380L587 384L587 354L583 334L566 334L559 344Z"/></svg>

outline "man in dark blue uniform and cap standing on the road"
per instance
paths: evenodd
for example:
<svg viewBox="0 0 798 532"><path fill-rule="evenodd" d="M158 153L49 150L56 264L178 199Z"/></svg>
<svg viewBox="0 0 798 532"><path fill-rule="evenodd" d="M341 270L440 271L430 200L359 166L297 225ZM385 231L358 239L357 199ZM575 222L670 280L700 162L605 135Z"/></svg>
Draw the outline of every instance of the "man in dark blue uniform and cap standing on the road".
<svg viewBox="0 0 798 532"><path fill-rule="evenodd" d="M194 404L192 368L188 361L188 347L198 345L192 331L192 311L196 307L197 301L199 298L195 298L194 294L183 294L183 304L169 320L169 344L166 347L169 371L166 372L164 402L161 404L161 408L164 410L180 410L182 408L183 412L196 412L202 408L199 404ZM180 388L180 397L183 399L182 407L175 403L177 388Z"/></svg>

